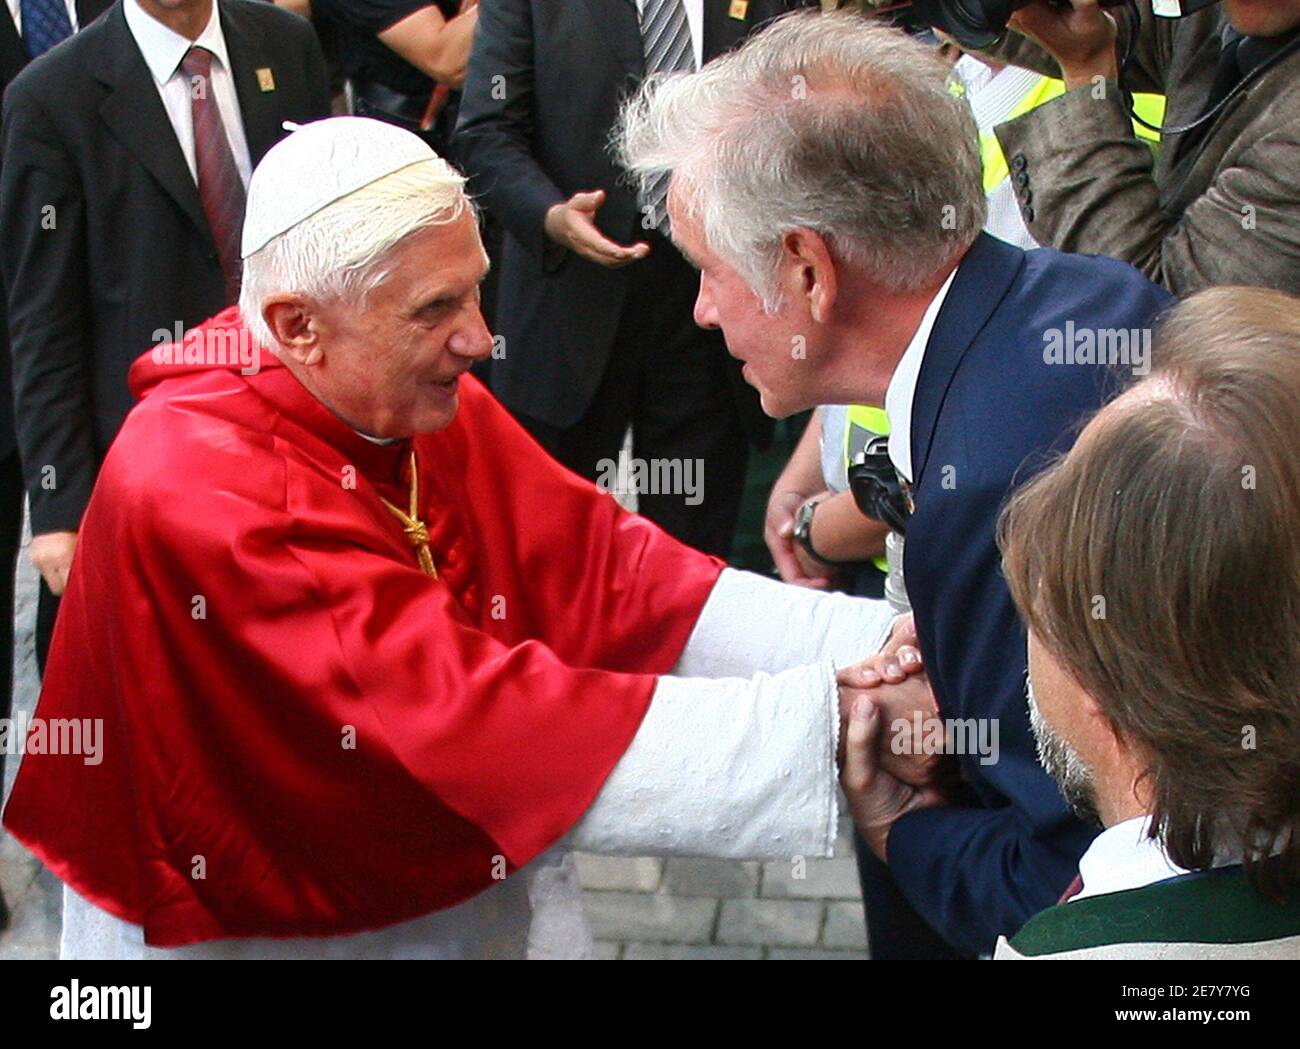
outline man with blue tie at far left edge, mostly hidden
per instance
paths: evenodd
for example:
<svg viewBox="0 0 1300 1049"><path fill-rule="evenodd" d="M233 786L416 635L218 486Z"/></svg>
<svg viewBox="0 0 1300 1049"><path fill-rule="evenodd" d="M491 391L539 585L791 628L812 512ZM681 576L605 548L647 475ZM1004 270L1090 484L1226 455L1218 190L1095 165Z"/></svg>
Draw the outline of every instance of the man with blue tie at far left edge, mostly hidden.
<svg viewBox="0 0 1300 1049"><path fill-rule="evenodd" d="M29 61L88 26L110 4L112 0L8 0L0 14L0 100ZM22 541L23 494L13 433L12 381L9 326L0 295L0 697L5 718L13 702L13 573ZM4 783L4 754L0 754L0 783ZM8 920L8 907L0 896L0 928Z"/></svg>

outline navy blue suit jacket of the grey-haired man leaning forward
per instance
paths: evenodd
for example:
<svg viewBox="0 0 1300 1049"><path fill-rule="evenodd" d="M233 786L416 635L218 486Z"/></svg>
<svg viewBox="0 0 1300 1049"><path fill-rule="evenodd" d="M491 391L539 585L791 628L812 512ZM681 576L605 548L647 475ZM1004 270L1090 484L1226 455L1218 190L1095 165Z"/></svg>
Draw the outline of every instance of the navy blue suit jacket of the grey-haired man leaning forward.
<svg viewBox="0 0 1300 1049"><path fill-rule="evenodd" d="M1169 303L1124 263L1024 252L982 234L926 348L911 413L907 595L942 716L996 719L998 759L961 758L974 797L896 823L889 868L916 911L971 953L1054 903L1096 833L1036 759L1024 630L996 542L1008 495L1074 443L1122 378L1095 364L1046 363L1046 333L1067 334L1067 321L1149 329ZM1088 595L1079 601L1084 615Z"/></svg>

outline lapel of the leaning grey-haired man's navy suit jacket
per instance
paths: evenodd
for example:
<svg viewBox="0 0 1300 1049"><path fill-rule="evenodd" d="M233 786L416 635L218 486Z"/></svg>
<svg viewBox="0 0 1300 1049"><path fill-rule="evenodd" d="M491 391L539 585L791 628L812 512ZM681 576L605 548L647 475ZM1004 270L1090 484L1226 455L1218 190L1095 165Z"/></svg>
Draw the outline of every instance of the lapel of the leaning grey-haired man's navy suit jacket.
<svg viewBox="0 0 1300 1049"><path fill-rule="evenodd" d="M1024 252L982 233L962 259L920 363L911 407L913 482L920 486L939 412L966 351L979 338L1024 265Z"/></svg>

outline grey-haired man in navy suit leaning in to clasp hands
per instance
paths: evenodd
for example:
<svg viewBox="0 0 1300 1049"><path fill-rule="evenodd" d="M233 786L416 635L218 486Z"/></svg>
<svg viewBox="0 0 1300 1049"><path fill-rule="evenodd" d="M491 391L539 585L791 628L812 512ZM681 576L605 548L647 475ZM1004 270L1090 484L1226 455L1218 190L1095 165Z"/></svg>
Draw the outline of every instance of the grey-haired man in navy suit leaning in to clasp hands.
<svg viewBox="0 0 1300 1049"><path fill-rule="evenodd" d="M1123 263L980 233L976 130L948 71L893 30L794 16L642 91L620 149L642 178L672 170L673 238L701 272L696 321L723 330L764 411L864 403L889 415L932 697L942 719L996 745L958 755L961 776L942 789L879 766L845 786L901 893L871 887L868 924L890 919L874 905L910 905L974 955L1054 903L1095 835L1036 760L997 515L1145 372L1169 296ZM920 681L898 688L933 714ZM923 749L867 707L859 731L881 753Z"/></svg>

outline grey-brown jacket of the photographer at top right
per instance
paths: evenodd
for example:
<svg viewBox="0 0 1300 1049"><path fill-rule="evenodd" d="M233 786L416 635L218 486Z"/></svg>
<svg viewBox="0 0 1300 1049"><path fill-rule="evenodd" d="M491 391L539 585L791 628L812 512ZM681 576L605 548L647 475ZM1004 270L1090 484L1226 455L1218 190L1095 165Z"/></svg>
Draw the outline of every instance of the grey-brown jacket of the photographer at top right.
<svg viewBox="0 0 1300 1049"><path fill-rule="evenodd" d="M1209 97L1227 16L1218 5L1186 18L1156 18L1150 0L1139 8L1124 83L1167 95L1166 125L1191 123ZM1123 32L1121 56L1126 47ZM1000 56L1060 75L1015 34ZM1236 95L1188 148L1179 148L1186 136L1170 135L1154 159L1113 83L1105 99L1078 88L998 126L1030 233L1062 251L1132 263L1179 298L1213 285L1300 294L1296 77L1300 51Z"/></svg>

